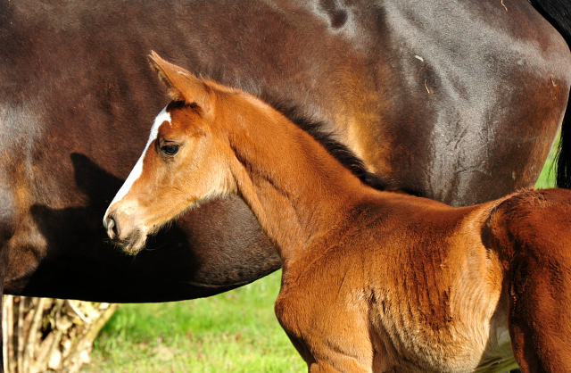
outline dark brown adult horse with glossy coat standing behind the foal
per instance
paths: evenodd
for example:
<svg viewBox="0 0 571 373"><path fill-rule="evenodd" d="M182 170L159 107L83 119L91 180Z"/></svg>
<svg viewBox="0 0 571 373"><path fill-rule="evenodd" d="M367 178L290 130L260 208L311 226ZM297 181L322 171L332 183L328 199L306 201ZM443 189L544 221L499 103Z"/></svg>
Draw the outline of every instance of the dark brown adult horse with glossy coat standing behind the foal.
<svg viewBox="0 0 571 373"><path fill-rule="evenodd" d="M236 198L137 260L103 242L166 100L151 49L323 122L394 187L453 205L534 184L571 81L564 38L524 0L1 2L4 293L169 301L280 266Z"/></svg>

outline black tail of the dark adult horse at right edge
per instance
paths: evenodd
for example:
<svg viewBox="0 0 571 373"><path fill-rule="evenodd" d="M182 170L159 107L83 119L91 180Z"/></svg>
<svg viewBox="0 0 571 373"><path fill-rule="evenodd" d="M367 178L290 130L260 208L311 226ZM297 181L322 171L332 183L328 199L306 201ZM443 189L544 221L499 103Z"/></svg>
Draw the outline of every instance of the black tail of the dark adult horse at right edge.
<svg viewBox="0 0 571 373"><path fill-rule="evenodd" d="M550 22L571 47L571 1L569 0L529 0L537 12ZM557 163L557 186L571 189L571 104L561 125Z"/></svg>

